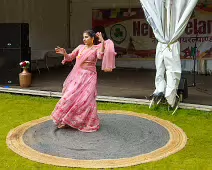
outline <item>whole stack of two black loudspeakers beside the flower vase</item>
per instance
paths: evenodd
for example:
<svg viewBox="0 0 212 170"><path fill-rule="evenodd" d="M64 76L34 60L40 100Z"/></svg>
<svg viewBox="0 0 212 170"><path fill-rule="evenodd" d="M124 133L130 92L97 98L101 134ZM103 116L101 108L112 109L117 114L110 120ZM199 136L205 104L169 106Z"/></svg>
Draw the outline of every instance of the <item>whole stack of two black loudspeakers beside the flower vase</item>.
<svg viewBox="0 0 212 170"><path fill-rule="evenodd" d="M31 63L29 24L0 23L0 84L18 85L25 60Z"/></svg>

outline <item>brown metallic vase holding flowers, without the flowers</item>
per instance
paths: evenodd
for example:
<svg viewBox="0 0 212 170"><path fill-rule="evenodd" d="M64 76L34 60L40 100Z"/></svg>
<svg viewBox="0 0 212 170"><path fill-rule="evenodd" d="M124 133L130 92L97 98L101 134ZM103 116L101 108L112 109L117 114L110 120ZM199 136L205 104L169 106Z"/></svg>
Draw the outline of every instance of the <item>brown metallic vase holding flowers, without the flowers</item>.
<svg viewBox="0 0 212 170"><path fill-rule="evenodd" d="M27 68L24 68L23 71L19 74L20 87L26 88L29 87L32 83L32 75L28 72Z"/></svg>

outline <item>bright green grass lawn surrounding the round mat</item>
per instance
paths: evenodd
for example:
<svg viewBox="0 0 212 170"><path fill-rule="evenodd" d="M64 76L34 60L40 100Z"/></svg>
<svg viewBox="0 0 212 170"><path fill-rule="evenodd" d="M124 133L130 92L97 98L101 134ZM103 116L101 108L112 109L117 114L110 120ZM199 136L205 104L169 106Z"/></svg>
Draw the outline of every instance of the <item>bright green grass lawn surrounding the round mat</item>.
<svg viewBox="0 0 212 170"><path fill-rule="evenodd" d="M51 114L58 99L18 96L0 93L0 169L4 170L62 170L80 169L45 165L22 158L7 148L8 132L25 122ZM98 103L100 110L129 110L169 120L188 136L186 147L157 162L119 169L138 170L212 170L212 113L180 109L171 116L166 108L149 110L147 106Z"/></svg>

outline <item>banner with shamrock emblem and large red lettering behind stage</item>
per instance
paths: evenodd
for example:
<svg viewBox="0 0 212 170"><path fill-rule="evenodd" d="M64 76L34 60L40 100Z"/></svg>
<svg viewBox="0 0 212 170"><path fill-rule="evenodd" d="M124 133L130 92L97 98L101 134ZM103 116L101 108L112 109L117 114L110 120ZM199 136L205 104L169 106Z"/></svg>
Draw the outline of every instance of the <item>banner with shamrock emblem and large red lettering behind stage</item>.
<svg viewBox="0 0 212 170"><path fill-rule="evenodd" d="M115 43L118 58L154 59L157 40L141 8L94 9L94 31ZM181 58L212 59L212 5L198 4L179 39ZM196 49L195 50L195 44Z"/></svg>

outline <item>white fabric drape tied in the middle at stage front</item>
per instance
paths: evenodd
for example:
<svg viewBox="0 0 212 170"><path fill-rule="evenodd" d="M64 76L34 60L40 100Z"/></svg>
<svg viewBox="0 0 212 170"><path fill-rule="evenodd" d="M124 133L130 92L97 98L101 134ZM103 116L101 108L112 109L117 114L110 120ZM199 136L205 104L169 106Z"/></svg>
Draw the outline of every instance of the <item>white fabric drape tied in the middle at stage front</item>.
<svg viewBox="0 0 212 170"><path fill-rule="evenodd" d="M155 56L155 92L165 94L173 106L181 78L180 43L198 0L140 0L146 19L158 40ZM164 74L166 73L166 80Z"/></svg>

